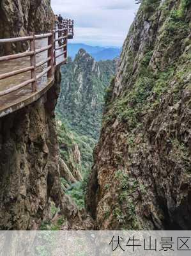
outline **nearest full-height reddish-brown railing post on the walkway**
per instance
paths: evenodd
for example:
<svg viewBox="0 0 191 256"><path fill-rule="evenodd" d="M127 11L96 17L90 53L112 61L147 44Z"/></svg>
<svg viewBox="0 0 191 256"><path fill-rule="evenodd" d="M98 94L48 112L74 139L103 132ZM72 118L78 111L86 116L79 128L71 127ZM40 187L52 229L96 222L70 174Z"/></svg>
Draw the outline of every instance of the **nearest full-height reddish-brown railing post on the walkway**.
<svg viewBox="0 0 191 256"><path fill-rule="evenodd" d="M33 39L30 40L30 51L34 52L33 55L31 55L31 67L34 67L33 70L31 70L31 78L34 79L34 82L32 83L32 92L36 92L37 85L36 85L36 47L35 47L35 35L34 32L29 33L30 36L33 36Z"/></svg>

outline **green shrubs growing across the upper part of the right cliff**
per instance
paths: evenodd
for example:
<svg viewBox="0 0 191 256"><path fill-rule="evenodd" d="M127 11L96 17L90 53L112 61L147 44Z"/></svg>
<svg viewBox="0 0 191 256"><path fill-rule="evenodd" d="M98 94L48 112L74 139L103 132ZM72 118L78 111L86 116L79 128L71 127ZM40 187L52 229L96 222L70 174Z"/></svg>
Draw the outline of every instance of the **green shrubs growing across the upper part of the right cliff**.
<svg viewBox="0 0 191 256"><path fill-rule="evenodd" d="M142 8L153 3L157 4L158 1L142 1ZM168 1L161 8L166 8L167 4ZM129 88L130 90L123 92L121 97L117 98L114 102L109 101L109 106L107 100L105 104L107 113L103 119L103 126L118 116L118 119L122 122L128 121L128 128L131 131L138 127L141 123L142 116L155 109L165 93L169 92L172 79L178 81L176 86L174 85L171 89L174 92L174 101L178 101L180 91L185 86L183 74L187 73L190 68L188 64L182 64L181 71L179 70L180 67L177 62L178 52L176 52L176 49L180 48L182 40L185 40L190 33L188 21L185 20L188 6L190 6L190 0L181 0L177 9L168 11L165 14L167 17L162 28L160 28L160 42L158 44L164 47L162 58L166 66L158 67L153 72L152 68L149 67L149 62L153 56L153 45L147 46L145 54L137 68L137 75ZM146 11L144 10L144 12ZM185 45L190 45L188 38L185 40ZM171 47L171 52L167 51L169 47ZM188 59L187 55L187 60L182 61L182 63L186 63ZM125 83L128 83L129 77L132 76L131 72L134 65L131 50L128 52L128 61L130 61L130 65L128 65L126 70ZM112 84L110 88L112 88ZM109 95L110 93L109 90Z"/></svg>

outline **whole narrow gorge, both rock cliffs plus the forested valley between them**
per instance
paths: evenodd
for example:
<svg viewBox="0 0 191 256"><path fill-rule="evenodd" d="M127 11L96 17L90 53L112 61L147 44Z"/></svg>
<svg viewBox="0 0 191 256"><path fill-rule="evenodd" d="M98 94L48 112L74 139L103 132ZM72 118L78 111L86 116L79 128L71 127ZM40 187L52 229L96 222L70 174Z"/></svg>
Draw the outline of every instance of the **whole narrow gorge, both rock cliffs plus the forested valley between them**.
<svg viewBox="0 0 191 256"><path fill-rule="evenodd" d="M80 49L0 118L1 230L190 230L191 0L135 2L120 58ZM2 0L0 38L52 31L50 4Z"/></svg>

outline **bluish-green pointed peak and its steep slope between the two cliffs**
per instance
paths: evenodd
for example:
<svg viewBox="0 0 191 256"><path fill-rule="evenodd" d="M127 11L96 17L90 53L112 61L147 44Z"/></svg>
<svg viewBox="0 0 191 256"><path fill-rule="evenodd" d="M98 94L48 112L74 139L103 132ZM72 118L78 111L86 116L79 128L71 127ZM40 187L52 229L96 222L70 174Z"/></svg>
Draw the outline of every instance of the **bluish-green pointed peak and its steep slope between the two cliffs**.
<svg viewBox="0 0 191 256"><path fill-rule="evenodd" d="M57 111L78 134L98 138L104 90L115 70L116 60L96 63L83 49L62 68Z"/></svg>

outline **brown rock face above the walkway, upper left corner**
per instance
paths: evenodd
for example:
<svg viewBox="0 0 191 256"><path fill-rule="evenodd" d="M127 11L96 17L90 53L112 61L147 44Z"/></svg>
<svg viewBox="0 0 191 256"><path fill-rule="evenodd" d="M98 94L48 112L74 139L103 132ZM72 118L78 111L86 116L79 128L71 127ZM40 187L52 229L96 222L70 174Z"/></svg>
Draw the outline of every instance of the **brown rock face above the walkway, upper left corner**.
<svg viewBox="0 0 191 256"><path fill-rule="evenodd" d="M29 31L47 32L54 27L50 0L2 0L0 3L0 38L26 36ZM5 45L6 53L26 49L27 45Z"/></svg>

